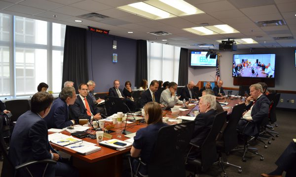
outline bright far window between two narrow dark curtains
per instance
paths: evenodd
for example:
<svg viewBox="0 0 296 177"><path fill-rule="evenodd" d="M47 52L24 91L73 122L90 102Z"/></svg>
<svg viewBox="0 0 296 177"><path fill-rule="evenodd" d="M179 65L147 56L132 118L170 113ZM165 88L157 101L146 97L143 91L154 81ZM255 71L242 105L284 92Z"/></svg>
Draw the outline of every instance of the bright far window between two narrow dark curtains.
<svg viewBox="0 0 296 177"><path fill-rule="evenodd" d="M180 47L147 42L148 81L162 80L178 84Z"/></svg>

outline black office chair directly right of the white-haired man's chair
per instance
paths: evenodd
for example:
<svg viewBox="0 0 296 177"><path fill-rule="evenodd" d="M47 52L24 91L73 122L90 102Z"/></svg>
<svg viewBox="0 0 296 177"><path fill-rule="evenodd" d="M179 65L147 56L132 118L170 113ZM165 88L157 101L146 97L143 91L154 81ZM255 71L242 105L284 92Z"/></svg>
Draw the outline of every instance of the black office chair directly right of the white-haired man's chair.
<svg viewBox="0 0 296 177"><path fill-rule="evenodd" d="M229 152L237 147L237 122L242 117L242 114L244 112L245 104L239 104L232 108L232 113L230 115L230 118L228 120L227 126L224 130L224 132L221 132L223 134L221 140L217 140L217 150L219 153L219 160L215 163L222 167L222 170L224 172L224 177L227 177L226 172L224 170L223 165L232 166L235 168L238 168L238 173L242 172L242 168L237 165L233 165L231 163L228 163L227 161L223 161L222 159L222 152L225 152L226 154L229 154Z"/></svg>

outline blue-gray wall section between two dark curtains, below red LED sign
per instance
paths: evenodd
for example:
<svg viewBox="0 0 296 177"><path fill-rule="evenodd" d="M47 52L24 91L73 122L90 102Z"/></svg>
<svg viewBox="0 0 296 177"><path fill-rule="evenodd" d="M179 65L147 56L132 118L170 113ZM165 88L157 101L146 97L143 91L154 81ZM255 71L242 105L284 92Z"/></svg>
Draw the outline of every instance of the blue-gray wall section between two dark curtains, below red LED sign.
<svg viewBox="0 0 296 177"><path fill-rule="evenodd" d="M130 81L134 87L136 40L91 31L86 35L88 75L96 83L95 92L109 91L115 79L120 81L122 89L125 81ZM117 50L112 49L113 40L117 41ZM112 62L113 53L117 54L117 63Z"/></svg>

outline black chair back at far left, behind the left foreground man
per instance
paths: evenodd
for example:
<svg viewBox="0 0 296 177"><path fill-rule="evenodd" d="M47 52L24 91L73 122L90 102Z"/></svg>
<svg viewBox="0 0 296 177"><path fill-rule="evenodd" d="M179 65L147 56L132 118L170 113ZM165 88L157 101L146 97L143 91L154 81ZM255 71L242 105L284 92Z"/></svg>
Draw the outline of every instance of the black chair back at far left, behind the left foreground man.
<svg viewBox="0 0 296 177"><path fill-rule="evenodd" d="M30 111L28 100L11 100L5 102L6 109L12 114L10 121L17 121L17 119L27 111Z"/></svg>

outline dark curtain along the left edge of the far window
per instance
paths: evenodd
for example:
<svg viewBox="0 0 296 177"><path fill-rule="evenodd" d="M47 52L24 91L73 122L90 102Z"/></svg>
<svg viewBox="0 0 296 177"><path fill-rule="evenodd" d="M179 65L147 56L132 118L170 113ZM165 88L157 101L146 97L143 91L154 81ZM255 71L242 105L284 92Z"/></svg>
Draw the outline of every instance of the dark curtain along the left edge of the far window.
<svg viewBox="0 0 296 177"><path fill-rule="evenodd" d="M137 40L137 64L135 86L140 87L142 79L148 78L147 41Z"/></svg>

